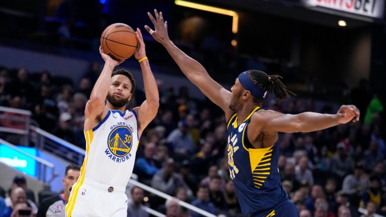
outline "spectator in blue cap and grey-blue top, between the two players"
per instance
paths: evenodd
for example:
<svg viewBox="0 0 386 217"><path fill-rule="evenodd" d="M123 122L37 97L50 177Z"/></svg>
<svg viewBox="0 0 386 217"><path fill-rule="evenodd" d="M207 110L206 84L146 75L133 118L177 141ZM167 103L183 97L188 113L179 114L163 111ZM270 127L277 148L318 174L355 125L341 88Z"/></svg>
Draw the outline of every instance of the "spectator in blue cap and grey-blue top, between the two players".
<svg viewBox="0 0 386 217"><path fill-rule="evenodd" d="M171 145L174 153L180 156L189 156L195 151L193 140L190 134L187 133L186 121L179 121L178 128L174 129L166 139L166 142ZM182 157L184 158L184 157Z"/></svg>

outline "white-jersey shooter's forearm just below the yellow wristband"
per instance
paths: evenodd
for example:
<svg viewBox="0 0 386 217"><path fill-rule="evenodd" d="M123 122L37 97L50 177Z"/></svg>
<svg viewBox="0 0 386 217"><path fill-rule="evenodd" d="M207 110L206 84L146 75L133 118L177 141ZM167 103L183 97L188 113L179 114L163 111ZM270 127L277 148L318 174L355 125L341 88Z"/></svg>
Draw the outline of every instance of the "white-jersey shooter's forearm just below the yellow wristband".
<svg viewBox="0 0 386 217"><path fill-rule="evenodd" d="M148 103L158 105L159 104L159 93L157 83L154 75L151 71L149 60L145 59L141 63L141 70L143 76L143 85L145 87L145 96Z"/></svg>

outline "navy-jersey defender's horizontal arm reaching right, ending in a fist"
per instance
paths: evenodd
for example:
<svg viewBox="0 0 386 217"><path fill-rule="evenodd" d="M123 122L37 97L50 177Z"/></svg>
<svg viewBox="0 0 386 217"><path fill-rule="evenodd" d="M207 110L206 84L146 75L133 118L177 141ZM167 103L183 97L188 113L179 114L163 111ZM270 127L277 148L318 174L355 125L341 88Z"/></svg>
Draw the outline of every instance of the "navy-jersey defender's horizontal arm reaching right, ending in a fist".
<svg viewBox="0 0 386 217"><path fill-rule="evenodd" d="M252 117L254 125L261 125L266 132L312 132L359 121L359 110L355 105L342 105L335 115L305 112L298 115L281 114L274 111L262 111ZM255 119L255 120L253 120Z"/></svg>

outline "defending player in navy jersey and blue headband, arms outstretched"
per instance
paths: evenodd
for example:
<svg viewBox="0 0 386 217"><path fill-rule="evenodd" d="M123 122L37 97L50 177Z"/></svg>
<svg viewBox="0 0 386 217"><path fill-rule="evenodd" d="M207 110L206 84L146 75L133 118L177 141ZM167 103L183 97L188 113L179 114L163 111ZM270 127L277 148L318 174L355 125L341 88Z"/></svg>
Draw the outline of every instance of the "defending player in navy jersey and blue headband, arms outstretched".
<svg viewBox="0 0 386 217"><path fill-rule="evenodd" d="M155 18L150 13L148 16L155 30L145 26L146 30L166 48L186 77L225 112L230 176L242 212L258 217L299 216L280 183L277 132L311 132L356 122L358 109L354 105L342 105L335 115L264 111L261 106L267 91L275 93L277 98L288 98L291 93L281 83L280 76L248 70L236 78L231 91L226 90L200 63L169 40L162 13L154 12Z"/></svg>

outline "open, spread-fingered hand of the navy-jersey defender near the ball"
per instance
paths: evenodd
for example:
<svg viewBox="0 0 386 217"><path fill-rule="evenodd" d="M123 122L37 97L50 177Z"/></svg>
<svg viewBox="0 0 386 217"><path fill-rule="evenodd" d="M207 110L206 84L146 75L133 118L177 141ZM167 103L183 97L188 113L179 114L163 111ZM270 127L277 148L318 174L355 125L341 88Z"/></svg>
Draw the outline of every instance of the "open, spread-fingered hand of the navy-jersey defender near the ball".
<svg viewBox="0 0 386 217"><path fill-rule="evenodd" d="M164 43L169 40L169 35L167 34L167 21L163 21L162 12L157 12L156 9L154 9L154 16L151 15L150 12L147 13L149 16L151 22L154 25L154 29L152 30L149 26L145 25L145 29L150 33L153 38L159 42Z"/></svg>

